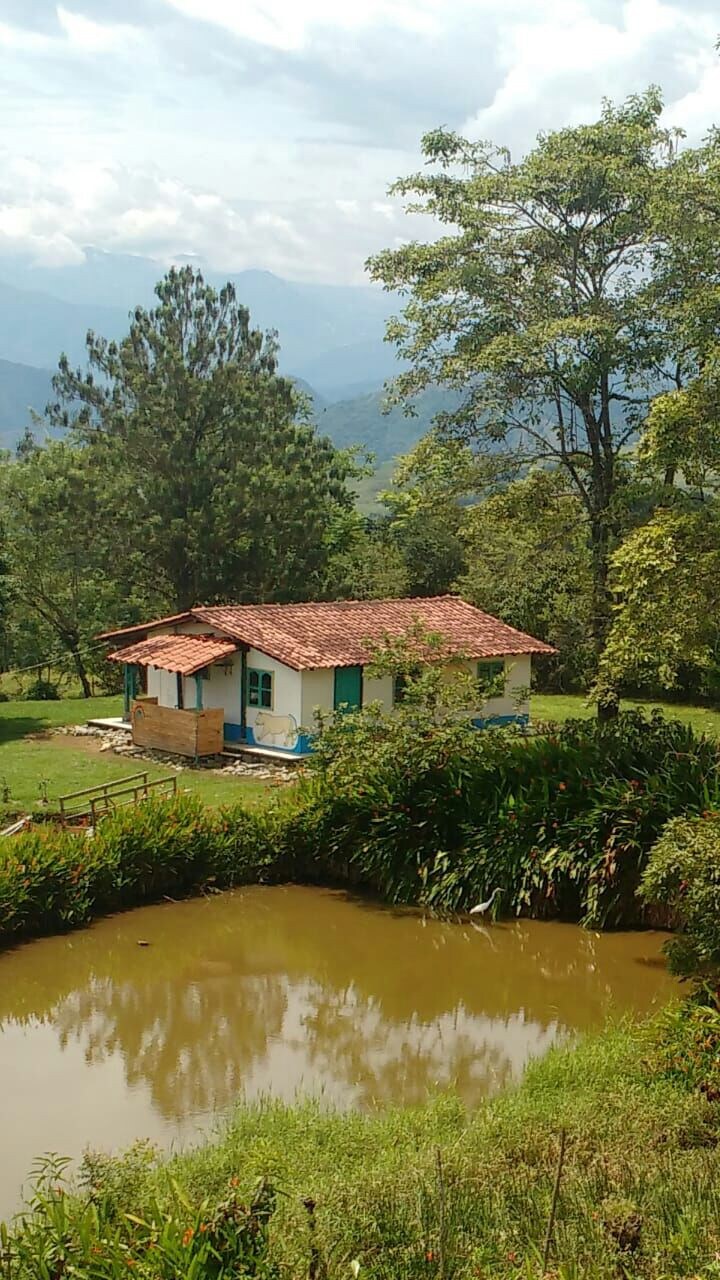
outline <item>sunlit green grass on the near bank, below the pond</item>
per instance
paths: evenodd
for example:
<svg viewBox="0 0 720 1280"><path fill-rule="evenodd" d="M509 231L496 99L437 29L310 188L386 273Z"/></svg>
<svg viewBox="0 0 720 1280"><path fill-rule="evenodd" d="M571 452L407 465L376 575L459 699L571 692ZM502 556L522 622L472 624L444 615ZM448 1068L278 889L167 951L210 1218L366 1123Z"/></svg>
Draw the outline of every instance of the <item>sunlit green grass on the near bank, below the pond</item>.
<svg viewBox="0 0 720 1280"><path fill-rule="evenodd" d="M82 1201L65 1198L59 1213L49 1192L13 1277L40 1275L40 1252L53 1257L58 1238L72 1242L78 1280L127 1275L128 1257L147 1280L217 1276L193 1254L209 1236L232 1247L224 1228L246 1221L242 1206L266 1178L279 1194L263 1266L222 1274L539 1280L561 1129L544 1274L717 1277L720 1111L652 1074L648 1047L646 1029L609 1028L551 1052L519 1089L470 1115L452 1097L373 1115L265 1102L240 1106L219 1140L170 1160L140 1147L124 1160L91 1156L97 1208L81 1228ZM165 1251L182 1260L177 1270L164 1268Z"/></svg>

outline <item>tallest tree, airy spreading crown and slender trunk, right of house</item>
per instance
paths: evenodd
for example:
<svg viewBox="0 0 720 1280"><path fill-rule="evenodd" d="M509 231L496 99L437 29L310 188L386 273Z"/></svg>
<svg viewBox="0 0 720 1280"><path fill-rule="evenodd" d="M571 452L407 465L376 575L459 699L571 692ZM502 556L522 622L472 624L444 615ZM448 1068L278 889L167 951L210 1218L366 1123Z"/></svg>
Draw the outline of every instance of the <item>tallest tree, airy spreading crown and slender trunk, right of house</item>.
<svg viewBox="0 0 720 1280"><path fill-rule="evenodd" d="M518 163L443 129L427 134L429 172L393 191L447 234L369 264L407 296L388 328L410 362L398 394L450 387L462 399L439 419L446 434L566 475L588 521L598 658L620 460L651 396L671 385L671 326L653 296L665 233L651 205L660 182L671 201L676 160L661 110L656 90L606 104L598 122L541 134ZM601 713L615 707L610 690Z"/></svg>

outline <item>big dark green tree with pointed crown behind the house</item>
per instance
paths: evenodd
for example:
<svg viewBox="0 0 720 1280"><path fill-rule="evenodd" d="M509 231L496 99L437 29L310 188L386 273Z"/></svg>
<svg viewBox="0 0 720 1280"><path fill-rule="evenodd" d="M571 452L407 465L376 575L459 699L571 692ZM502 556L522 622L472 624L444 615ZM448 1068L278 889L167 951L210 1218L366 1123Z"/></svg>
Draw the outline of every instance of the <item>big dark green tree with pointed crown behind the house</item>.
<svg viewBox="0 0 720 1280"><path fill-rule="evenodd" d="M86 372L60 360L49 408L111 477L118 556L172 608L316 593L350 460L309 425L232 284L183 268L155 292L122 342L88 334Z"/></svg>

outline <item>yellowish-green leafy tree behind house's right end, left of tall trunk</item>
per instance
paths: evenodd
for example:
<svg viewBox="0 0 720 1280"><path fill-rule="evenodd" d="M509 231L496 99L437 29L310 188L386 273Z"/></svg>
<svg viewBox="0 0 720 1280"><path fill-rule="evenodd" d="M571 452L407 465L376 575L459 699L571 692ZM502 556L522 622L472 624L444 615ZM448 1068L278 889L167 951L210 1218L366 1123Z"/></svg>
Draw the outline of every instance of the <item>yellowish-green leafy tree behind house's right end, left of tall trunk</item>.
<svg viewBox="0 0 720 1280"><path fill-rule="evenodd" d="M565 474L533 470L470 507L461 538L462 595L555 645L552 684L587 687L593 663L588 518Z"/></svg>

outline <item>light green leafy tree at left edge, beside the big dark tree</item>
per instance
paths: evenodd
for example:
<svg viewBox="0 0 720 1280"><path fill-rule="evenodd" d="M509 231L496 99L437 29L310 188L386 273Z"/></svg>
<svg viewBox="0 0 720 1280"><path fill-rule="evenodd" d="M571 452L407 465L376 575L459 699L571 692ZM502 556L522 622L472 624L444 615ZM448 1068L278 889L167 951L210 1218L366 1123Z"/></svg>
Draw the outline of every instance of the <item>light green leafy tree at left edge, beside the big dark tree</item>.
<svg viewBox="0 0 720 1280"><path fill-rule="evenodd" d="M13 613L36 620L36 643L37 637L53 641L45 660L58 655L61 663L63 653L69 655L90 698L87 649L94 635L119 621L120 609L128 607L117 564L114 576L106 571L113 549L102 530L111 495L102 489L90 452L64 442L31 449L3 467L0 493Z"/></svg>

